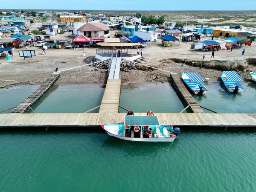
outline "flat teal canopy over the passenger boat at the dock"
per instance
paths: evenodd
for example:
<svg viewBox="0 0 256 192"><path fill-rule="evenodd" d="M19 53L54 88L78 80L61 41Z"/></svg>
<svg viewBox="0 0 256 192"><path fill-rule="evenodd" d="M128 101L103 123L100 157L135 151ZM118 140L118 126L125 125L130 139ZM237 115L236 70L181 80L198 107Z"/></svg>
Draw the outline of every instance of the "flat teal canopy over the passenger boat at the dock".
<svg viewBox="0 0 256 192"><path fill-rule="evenodd" d="M125 125L160 125L157 116L126 115Z"/></svg>

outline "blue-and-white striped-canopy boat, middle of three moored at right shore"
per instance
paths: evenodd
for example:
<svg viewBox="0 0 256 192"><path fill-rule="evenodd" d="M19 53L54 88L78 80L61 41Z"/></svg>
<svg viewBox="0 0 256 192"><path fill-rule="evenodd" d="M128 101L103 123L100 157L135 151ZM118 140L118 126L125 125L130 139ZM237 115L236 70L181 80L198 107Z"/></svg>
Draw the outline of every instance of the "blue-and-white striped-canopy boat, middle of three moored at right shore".
<svg viewBox="0 0 256 192"><path fill-rule="evenodd" d="M239 91L244 90L239 83L240 81L243 81L243 79L236 73L236 71L223 71L221 79L229 92L238 93Z"/></svg>

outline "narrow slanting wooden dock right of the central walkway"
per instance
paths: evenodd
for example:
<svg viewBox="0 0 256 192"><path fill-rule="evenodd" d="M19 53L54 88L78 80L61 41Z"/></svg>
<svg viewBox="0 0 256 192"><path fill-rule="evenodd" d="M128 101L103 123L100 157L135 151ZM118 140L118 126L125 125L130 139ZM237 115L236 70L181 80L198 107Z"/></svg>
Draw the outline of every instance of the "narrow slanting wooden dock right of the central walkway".
<svg viewBox="0 0 256 192"><path fill-rule="evenodd" d="M171 74L170 77L171 77L172 82L173 82L174 86L176 87L177 91L183 97L186 104L189 105L189 108L191 109L192 113L204 113L202 108L195 101L194 97L192 97L192 95L186 89L185 85L180 80L180 77L177 74Z"/></svg>

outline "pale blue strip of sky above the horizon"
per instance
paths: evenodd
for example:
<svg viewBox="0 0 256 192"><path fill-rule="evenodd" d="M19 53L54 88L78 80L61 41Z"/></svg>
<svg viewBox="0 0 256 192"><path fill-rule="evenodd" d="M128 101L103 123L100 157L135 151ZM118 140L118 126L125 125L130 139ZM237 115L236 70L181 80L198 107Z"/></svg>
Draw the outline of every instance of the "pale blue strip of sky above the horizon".
<svg viewBox="0 0 256 192"><path fill-rule="evenodd" d="M12 0L12 3L1 3L0 9L242 11L256 10L256 0Z"/></svg>

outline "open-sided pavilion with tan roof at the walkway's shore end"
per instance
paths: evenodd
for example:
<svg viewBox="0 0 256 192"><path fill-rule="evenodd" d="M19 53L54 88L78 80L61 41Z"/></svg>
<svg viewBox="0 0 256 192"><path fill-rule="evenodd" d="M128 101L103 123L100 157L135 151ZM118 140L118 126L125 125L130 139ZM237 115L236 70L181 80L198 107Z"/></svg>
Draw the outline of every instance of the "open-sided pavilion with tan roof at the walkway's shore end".
<svg viewBox="0 0 256 192"><path fill-rule="evenodd" d="M96 44L96 54L101 56L113 56L118 53L118 50L122 52L122 56L137 55L137 48L140 47L140 43L108 43L99 42Z"/></svg>

